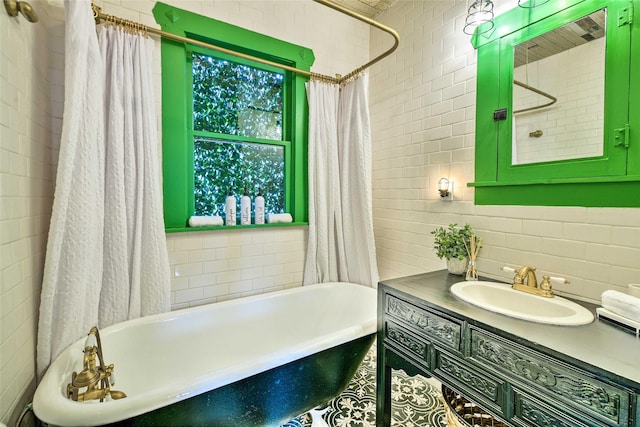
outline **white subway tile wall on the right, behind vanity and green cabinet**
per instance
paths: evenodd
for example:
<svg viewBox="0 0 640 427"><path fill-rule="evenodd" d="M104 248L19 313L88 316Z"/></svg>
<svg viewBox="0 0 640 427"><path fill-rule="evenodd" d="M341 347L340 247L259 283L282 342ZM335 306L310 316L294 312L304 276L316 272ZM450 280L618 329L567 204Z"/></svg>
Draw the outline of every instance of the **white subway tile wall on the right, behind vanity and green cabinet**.
<svg viewBox="0 0 640 427"><path fill-rule="evenodd" d="M502 2L500 10L516 6ZM462 32L465 1L402 1L380 16L401 36L371 71L373 209L382 279L444 267L430 232L469 223L484 239L480 273L509 280L503 265L566 277L565 295L599 301L606 289L640 281L640 210L475 206L476 54ZM372 55L385 43L371 33ZM454 181L454 201L436 183ZM624 195L620 195L624 197Z"/></svg>

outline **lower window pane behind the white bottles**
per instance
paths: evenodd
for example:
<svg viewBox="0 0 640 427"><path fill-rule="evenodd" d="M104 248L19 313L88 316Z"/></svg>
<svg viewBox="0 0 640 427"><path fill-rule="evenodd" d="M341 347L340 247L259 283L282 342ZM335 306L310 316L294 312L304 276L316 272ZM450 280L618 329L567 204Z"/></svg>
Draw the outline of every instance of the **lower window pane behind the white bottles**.
<svg viewBox="0 0 640 427"><path fill-rule="evenodd" d="M238 201L246 187L262 189L265 213L284 212L284 147L212 138L194 139L195 215L224 215L229 189Z"/></svg>

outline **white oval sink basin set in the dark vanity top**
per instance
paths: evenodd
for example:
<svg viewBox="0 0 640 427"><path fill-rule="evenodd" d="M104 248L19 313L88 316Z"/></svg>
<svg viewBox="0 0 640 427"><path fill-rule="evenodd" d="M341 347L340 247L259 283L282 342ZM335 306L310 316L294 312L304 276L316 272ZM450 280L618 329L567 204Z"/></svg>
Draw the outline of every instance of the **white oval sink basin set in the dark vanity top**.
<svg viewBox="0 0 640 427"><path fill-rule="evenodd" d="M530 322L565 326L593 322L589 310L568 299L527 294L504 283L458 282L451 286L451 292L469 304Z"/></svg>

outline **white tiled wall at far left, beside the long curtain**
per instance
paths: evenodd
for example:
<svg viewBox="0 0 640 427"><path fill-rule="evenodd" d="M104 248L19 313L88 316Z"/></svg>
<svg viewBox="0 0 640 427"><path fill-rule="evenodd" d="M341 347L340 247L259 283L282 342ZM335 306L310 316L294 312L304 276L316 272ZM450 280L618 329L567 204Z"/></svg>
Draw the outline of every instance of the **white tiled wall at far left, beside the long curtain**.
<svg viewBox="0 0 640 427"><path fill-rule="evenodd" d="M41 22L48 19L33 3ZM35 389L40 283L54 186L55 26L0 13L0 421ZM49 43L51 41L51 44ZM55 79L55 77L54 77Z"/></svg>

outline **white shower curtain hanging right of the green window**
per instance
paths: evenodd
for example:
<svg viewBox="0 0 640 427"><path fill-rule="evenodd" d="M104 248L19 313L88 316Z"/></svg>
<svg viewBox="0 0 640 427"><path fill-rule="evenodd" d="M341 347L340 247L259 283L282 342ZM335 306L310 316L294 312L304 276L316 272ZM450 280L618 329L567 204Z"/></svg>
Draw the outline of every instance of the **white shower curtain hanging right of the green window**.
<svg viewBox="0 0 640 427"><path fill-rule="evenodd" d="M309 242L304 284L378 283L371 202L368 75L307 83Z"/></svg>

